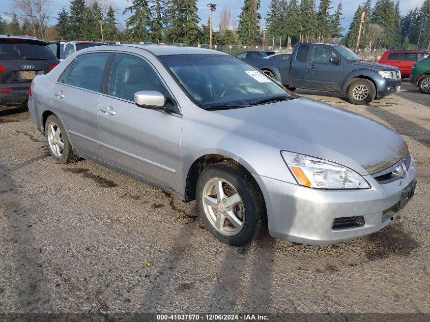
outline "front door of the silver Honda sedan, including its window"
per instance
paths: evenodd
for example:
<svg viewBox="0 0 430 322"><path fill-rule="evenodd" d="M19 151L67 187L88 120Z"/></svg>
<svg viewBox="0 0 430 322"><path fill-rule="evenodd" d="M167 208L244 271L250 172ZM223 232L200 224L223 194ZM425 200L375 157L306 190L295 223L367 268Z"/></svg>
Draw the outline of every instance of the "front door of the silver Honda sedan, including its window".
<svg viewBox="0 0 430 322"><path fill-rule="evenodd" d="M103 159L178 190L182 116L137 106L139 91L168 95L148 61L117 53L98 109Z"/></svg>

